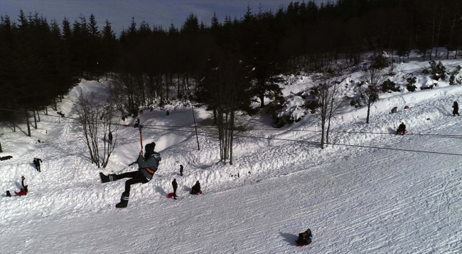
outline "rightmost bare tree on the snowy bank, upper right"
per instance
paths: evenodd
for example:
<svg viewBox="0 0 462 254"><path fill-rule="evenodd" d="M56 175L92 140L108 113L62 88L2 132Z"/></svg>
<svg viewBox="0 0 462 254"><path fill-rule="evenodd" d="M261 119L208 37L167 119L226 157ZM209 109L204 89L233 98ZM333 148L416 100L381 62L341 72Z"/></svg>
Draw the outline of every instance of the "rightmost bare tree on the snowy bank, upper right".
<svg viewBox="0 0 462 254"><path fill-rule="evenodd" d="M380 85L385 81L385 72L376 68L362 70L361 100L367 105L366 123L369 124L370 107L379 100Z"/></svg>

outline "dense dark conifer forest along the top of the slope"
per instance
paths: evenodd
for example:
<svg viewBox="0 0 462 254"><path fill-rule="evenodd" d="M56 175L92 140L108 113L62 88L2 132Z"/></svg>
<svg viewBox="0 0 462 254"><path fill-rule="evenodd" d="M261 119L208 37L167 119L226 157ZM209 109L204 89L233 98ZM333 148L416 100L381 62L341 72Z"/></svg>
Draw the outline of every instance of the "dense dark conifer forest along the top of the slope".
<svg viewBox="0 0 462 254"><path fill-rule="evenodd" d="M151 27L133 18L117 38L109 21L98 30L93 15L58 24L20 11L17 18L1 16L0 108L53 106L72 88L72 78L104 77L119 81L127 115L136 115L141 105L196 94L200 80L218 73L210 71L217 67L210 63L223 63L210 59L229 54L251 70L238 72L252 76L242 91L263 107L264 97L281 95L276 85L281 73L318 71L340 58L353 65L364 51L404 58L416 49L422 60L434 57L436 46L457 52L461 16L458 0L296 1L274 11L247 7L242 18L225 16L223 22L217 16L198 21L190 14L181 28ZM211 109L216 105L195 99ZM0 110L0 120L14 117Z"/></svg>

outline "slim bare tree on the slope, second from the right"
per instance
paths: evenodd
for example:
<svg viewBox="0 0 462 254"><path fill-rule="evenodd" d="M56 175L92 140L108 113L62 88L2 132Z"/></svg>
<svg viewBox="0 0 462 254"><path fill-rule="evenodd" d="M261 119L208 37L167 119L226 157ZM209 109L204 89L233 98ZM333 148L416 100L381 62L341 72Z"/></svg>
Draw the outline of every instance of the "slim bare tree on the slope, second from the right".
<svg viewBox="0 0 462 254"><path fill-rule="evenodd" d="M319 107L316 108L315 114L321 120L321 148L324 144L329 143L329 129L331 120L338 113L341 103L343 102L343 89L340 82L333 77L324 75L318 80L318 85L314 87L315 100ZM326 137L326 142L324 141Z"/></svg>

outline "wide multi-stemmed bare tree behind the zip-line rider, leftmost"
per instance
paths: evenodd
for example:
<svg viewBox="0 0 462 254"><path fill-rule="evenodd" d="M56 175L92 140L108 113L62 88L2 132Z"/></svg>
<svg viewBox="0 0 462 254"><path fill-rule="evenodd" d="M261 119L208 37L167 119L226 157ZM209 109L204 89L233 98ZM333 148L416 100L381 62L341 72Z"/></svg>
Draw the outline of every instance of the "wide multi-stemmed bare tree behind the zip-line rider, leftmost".
<svg viewBox="0 0 462 254"><path fill-rule="evenodd" d="M88 152L92 163L98 167L106 167L109 157L114 150L117 140L117 125L112 124L114 120L114 107L112 104L104 105L106 100L98 98L95 92L82 93L75 105L77 122L75 127L82 135L87 144ZM114 132L114 142L106 142L109 132ZM100 137L103 140L103 151L100 152Z"/></svg>

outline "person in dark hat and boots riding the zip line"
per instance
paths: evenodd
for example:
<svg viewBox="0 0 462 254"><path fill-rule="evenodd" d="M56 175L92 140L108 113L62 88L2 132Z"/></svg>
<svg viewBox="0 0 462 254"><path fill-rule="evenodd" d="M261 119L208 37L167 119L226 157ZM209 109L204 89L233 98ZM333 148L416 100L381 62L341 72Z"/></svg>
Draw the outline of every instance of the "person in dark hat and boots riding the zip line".
<svg viewBox="0 0 462 254"><path fill-rule="evenodd" d="M144 150L146 151L143 157L143 150L139 152L138 166L139 170L131 171L123 174L109 174L105 176L100 173L100 179L102 183L108 181L117 181L119 179L130 178L125 181L125 191L122 193L120 203L117 203L116 208L126 208L129 203L130 186L131 184L146 184L151 181L152 176L156 172L159 162L161 161L161 154L154 152L156 143L146 144Z"/></svg>

